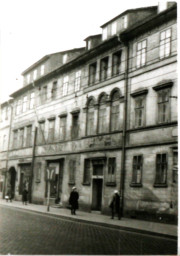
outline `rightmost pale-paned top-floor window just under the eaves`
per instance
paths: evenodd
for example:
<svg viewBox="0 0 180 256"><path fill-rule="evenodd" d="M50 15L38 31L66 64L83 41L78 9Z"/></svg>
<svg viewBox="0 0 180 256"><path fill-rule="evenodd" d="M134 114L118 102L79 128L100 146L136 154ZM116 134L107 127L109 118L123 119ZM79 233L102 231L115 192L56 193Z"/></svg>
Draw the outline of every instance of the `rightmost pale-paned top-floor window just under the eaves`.
<svg viewBox="0 0 180 256"><path fill-rule="evenodd" d="M160 34L160 58L165 58L171 52L171 29L167 29Z"/></svg>

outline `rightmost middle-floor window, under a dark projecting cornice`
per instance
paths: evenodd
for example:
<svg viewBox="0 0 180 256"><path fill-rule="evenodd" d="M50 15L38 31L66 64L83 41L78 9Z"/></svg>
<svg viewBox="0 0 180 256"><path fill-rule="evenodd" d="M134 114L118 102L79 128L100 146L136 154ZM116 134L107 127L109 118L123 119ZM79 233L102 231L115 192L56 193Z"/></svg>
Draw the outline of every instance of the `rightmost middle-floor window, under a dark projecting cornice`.
<svg viewBox="0 0 180 256"><path fill-rule="evenodd" d="M166 123L170 117L169 89L158 92L158 123Z"/></svg>

